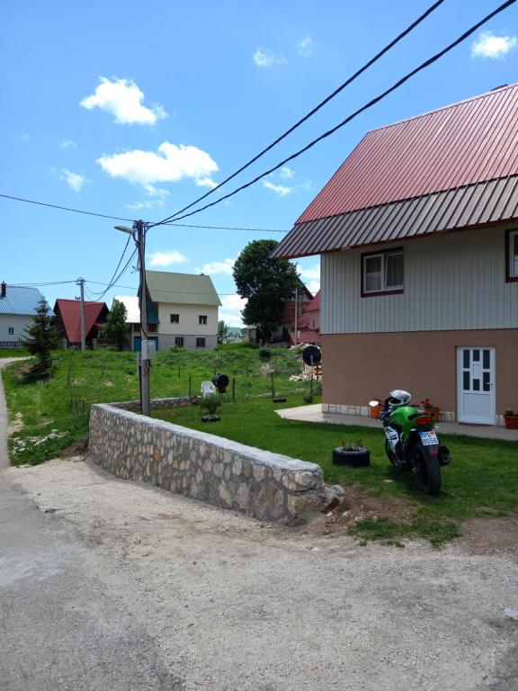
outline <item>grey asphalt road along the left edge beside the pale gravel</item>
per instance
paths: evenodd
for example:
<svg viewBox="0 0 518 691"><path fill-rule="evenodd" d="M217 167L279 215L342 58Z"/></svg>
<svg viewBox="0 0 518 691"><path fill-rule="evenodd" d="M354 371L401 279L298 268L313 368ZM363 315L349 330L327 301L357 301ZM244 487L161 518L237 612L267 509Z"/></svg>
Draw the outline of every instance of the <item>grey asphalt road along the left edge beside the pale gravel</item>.
<svg viewBox="0 0 518 691"><path fill-rule="evenodd" d="M8 361L0 361L0 367ZM7 466L0 378L0 467ZM3 691L181 689L71 527L0 474Z"/></svg>

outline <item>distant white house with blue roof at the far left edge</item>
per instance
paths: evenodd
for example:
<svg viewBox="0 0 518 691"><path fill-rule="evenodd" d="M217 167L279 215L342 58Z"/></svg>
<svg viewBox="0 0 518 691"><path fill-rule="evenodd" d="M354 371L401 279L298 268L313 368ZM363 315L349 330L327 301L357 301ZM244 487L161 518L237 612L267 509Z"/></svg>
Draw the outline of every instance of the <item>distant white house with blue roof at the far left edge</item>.
<svg viewBox="0 0 518 691"><path fill-rule="evenodd" d="M42 297L37 288L0 283L0 348L21 345Z"/></svg>

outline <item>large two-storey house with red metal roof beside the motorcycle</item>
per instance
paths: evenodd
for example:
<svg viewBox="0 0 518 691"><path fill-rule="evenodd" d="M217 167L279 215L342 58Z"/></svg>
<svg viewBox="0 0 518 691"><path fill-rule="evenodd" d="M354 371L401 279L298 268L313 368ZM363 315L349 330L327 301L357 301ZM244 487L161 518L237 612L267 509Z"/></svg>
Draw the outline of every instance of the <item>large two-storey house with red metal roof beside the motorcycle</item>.
<svg viewBox="0 0 518 691"><path fill-rule="evenodd" d="M321 256L323 409L518 408L518 85L368 132L272 252Z"/></svg>

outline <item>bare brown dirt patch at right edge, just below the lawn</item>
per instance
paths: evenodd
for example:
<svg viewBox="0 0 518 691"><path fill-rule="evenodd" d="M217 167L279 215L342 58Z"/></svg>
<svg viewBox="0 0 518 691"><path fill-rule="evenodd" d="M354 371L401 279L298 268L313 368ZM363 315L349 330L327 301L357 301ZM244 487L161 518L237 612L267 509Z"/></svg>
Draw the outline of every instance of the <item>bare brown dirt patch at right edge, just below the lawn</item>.
<svg viewBox="0 0 518 691"><path fill-rule="evenodd" d="M518 516L473 518L460 532L455 546L469 554L518 555Z"/></svg>

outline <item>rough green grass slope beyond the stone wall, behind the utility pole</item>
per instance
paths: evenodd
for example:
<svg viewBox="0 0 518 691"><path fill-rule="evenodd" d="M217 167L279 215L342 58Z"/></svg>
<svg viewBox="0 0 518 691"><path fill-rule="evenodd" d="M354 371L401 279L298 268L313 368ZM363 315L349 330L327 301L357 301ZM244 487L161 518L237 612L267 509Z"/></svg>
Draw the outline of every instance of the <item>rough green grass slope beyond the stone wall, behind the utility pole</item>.
<svg viewBox="0 0 518 691"><path fill-rule="evenodd" d="M14 363L4 369L4 388L10 418L22 416L22 429L9 440L10 459L14 465L35 464L52 458L67 444L86 436L91 404L138 399L138 374L134 353L108 350L57 351L53 354L53 375L47 381L29 382L23 376L30 364ZM280 393L308 392L307 382L289 381L290 374L300 372L297 357L282 348L272 349L271 363L279 374L275 386ZM263 361L257 349L244 345L219 346L215 351L192 353L173 349L157 354L151 367L153 398L184 396L191 390L198 394L201 381L210 380L215 372L224 372L236 380L236 397L267 396L270 377L262 375ZM67 387L70 381L70 387ZM231 389L229 390L231 395ZM71 395L77 401L77 412L71 409ZM83 414L83 412L85 414ZM52 434L46 441L41 439ZM27 444L19 441L31 440Z"/></svg>

